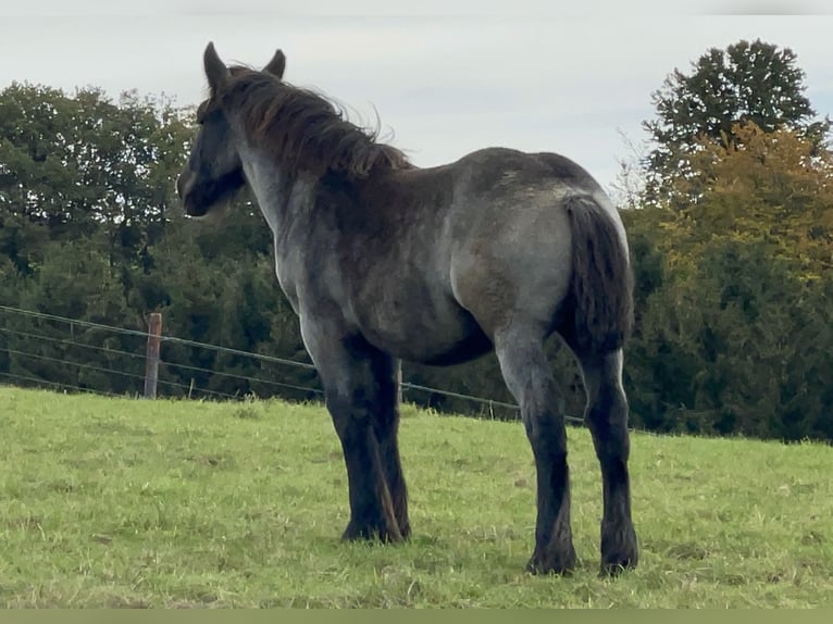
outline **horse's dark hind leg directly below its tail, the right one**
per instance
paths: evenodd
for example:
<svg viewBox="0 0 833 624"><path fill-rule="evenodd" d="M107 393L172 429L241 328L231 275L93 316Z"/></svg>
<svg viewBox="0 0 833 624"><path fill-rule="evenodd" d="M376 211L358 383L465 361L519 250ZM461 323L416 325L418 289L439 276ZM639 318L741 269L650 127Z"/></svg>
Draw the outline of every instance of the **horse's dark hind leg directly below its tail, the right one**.
<svg viewBox="0 0 833 624"><path fill-rule="evenodd" d="M579 354L587 392L584 420L601 466L601 572L616 574L633 567L638 559L636 532L631 520L627 473L630 438L627 399L622 389L622 351Z"/></svg>

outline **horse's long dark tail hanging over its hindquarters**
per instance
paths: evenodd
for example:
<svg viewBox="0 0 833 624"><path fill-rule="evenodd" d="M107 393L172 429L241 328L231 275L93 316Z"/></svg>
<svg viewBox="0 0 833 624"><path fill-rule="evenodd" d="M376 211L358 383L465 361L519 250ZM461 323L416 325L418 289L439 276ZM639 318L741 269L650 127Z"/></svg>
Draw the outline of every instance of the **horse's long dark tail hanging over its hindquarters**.
<svg viewBox="0 0 833 624"><path fill-rule="evenodd" d="M633 273L612 216L588 196L564 201L573 238L573 338L593 353L622 347L633 329Z"/></svg>

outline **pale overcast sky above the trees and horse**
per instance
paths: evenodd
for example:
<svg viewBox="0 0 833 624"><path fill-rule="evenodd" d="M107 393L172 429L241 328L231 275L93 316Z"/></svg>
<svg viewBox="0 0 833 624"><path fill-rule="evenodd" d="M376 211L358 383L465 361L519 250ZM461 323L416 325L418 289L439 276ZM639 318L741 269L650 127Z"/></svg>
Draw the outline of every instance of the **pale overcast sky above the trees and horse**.
<svg viewBox="0 0 833 624"><path fill-rule="evenodd" d="M294 4L290 7L290 4ZM576 4L576 5L574 5ZM0 89L128 89L196 104L202 51L262 66L381 121L420 166L478 148L554 151L602 185L647 138L651 92L706 50L791 48L833 116L833 2L822 0L2 0Z"/></svg>

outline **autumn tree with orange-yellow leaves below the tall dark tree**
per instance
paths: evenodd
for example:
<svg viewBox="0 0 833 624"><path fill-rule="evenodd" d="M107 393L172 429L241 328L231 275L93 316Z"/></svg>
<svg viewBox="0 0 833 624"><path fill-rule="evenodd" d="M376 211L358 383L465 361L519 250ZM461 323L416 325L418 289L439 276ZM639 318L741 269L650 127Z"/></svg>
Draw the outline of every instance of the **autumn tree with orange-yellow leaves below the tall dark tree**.
<svg viewBox="0 0 833 624"><path fill-rule="evenodd" d="M735 124L700 138L692 171L670 188L694 198L660 225L670 262L683 267L714 239L761 244L801 277L833 269L833 154L798 129Z"/></svg>

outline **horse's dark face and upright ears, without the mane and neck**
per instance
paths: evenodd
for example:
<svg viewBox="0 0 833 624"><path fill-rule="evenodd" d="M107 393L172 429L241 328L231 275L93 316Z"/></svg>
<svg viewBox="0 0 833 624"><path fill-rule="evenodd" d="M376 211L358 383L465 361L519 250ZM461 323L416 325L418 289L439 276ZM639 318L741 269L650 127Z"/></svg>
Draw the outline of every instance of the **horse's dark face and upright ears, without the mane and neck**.
<svg viewBox="0 0 833 624"><path fill-rule="evenodd" d="M231 201L246 185L243 163L223 110L222 95L232 79L232 71L209 43L203 54L209 98L197 109L197 136L188 163L176 180L176 191L190 216L204 216L214 207ZM283 78L286 58L281 50L263 68L277 79Z"/></svg>

